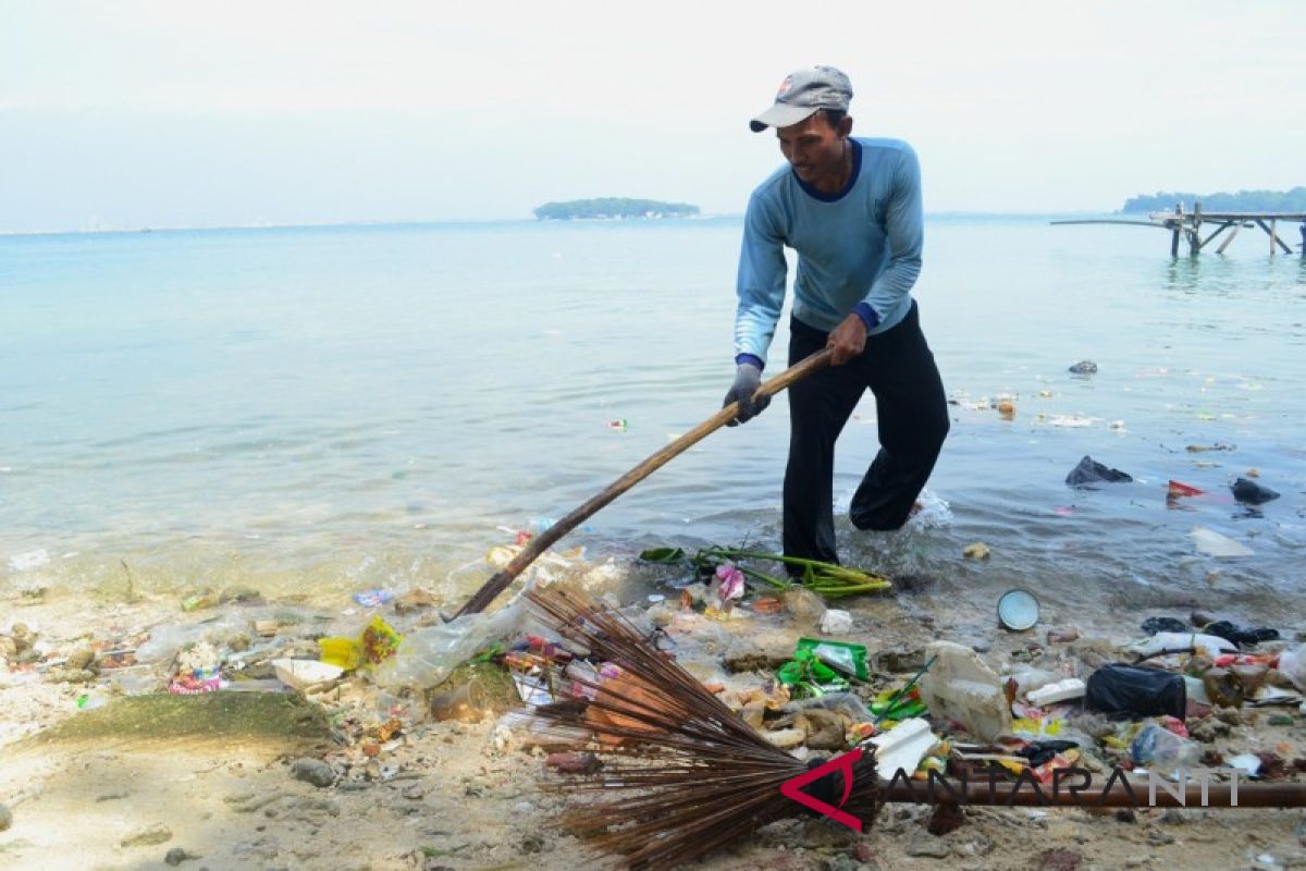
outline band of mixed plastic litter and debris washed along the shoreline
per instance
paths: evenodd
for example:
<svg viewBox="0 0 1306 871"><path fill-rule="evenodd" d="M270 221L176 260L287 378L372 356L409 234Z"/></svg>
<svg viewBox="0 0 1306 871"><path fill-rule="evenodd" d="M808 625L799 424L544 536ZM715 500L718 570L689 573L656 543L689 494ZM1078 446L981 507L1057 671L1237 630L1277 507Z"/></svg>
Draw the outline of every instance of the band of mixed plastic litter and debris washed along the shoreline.
<svg viewBox="0 0 1306 871"><path fill-rule="evenodd" d="M511 560L528 539L495 548L490 563ZM1230 770L1267 781L1306 774L1306 645L1271 627L1192 614L1148 618L1131 637L1074 627L1036 636L1037 599L1013 590L998 609L995 648L904 644L876 637L857 611L829 607L819 592L842 590L820 572L789 582L721 548L645 556L666 593L605 601L799 760L874 747L880 777L909 782L938 774L1047 785L1068 769L1104 778L1177 778L1194 768L1226 780ZM687 564L688 577L678 573ZM539 568L525 584L590 594L619 575L613 560L589 563L580 550L547 554ZM0 678L76 687L78 709L157 692L299 693L336 738L291 772L320 787L404 776L404 748L439 722L479 723L495 752L539 752L546 772L596 774L613 747L585 730L539 734L524 712L585 692L637 696L639 675L558 637L521 593L504 599L447 620L440 598L419 588L358 592L343 615L253 590L200 590L182 598L176 622L144 631L52 641L14 623L0 635Z"/></svg>

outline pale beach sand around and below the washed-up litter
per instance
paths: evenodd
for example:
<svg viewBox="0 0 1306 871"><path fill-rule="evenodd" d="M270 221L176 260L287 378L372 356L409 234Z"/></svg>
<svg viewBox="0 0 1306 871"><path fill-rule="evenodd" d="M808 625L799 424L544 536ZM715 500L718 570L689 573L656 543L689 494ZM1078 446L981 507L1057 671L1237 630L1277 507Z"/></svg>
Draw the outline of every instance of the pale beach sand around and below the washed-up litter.
<svg viewBox="0 0 1306 871"><path fill-rule="evenodd" d="M577 582L594 594L626 595L623 605L637 595L636 606L649 607L620 580L641 569L601 568L579 567ZM948 619L959 619L957 611L939 609L929 586L845 606L853 627L841 637L867 645L876 686L901 686L925 642L957 631ZM328 609L247 597L184 614L175 598L89 606L77 595L50 592L9 595L4 610L13 615L12 623L0 624L0 637L8 639L0 644L9 650L0 673L0 804L8 810L0 816L12 819L0 833L5 867L490 870L601 867L611 861L552 819L565 799L543 785L558 778L546 759L559 747L534 743L500 722L498 712L470 722L439 722L415 704L379 710L396 699L380 697L366 671L316 687L307 700L257 676L264 674L257 662L313 650L312 637L323 635L323 627L359 624L364 614L358 609L346 607L354 614L328 622ZM434 616L430 609L396 615L393 603L377 612L409 627ZM261 636L260 628L270 631L269 619L278 626ZM696 676L763 687L765 669L748 671L739 663L750 656L765 661L773 656L768 652L793 645L814 619L789 609L765 615L743 610L720 622L687 610L673 615L666 633ZM225 689L158 692L176 667L176 654L150 667L128 666L125 671L150 675L135 683L114 667L125 658L121 650L148 649L148 639L166 636L165 629L189 627L195 637L204 626L242 624L248 637L236 639L235 646L248 645L248 661L231 650L229 639L223 673L232 680ZM1053 637L1071 640L1050 641L1047 632L994 631L987 645L977 646L994 665L1032 658L1041 666L1088 669L1110 658L1117 641L1081 635L1070 623L1055 623ZM34 641L16 652L14 636ZM81 662L86 674L77 674L73 666L78 657L85 659L85 650L93 657ZM249 679L240 680L242 673ZM239 692L242 683L252 691ZM154 692L123 696L124 686ZM1190 718L1188 729L1207 750L1275 753L1286 772L1276 777L1298 778L1298 760L1306 757L1302 727L1296 708L1288 710L1245 708L1217 712L1218 718L1205 713ZM1285 725L1269 725L1276 716L1276 723ZM929 819L926 806L889 804L871 831L857 834L828 820L795 817L708 857L701 867L1306 864L1299 810L968 808L964 824L943 837L927 832Z"/></svg>

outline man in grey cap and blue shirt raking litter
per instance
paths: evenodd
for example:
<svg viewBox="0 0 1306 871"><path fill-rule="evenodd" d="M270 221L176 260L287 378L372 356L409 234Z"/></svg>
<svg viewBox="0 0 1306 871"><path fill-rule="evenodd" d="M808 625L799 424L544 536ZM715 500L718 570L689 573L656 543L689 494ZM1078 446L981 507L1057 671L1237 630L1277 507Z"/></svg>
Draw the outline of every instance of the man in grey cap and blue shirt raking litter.
<svg viewBox="0 0 1306 871"><path fill-rule="evenodd" d="M947 400L921 333L912 286L921 272L923 217L916 153L906 142L852 138L853 87L832 67L790 74L751 121L776 131L788 161L748 200L735 313L737 373L725 405L731 426L754 402L785 302L788 245L798 253L789 364L833 349L831 368L789 388L784 548L837 563L835 440L862 393L875 394L880 451L849 516L858 529L899 529L948 434Z"/></svg>

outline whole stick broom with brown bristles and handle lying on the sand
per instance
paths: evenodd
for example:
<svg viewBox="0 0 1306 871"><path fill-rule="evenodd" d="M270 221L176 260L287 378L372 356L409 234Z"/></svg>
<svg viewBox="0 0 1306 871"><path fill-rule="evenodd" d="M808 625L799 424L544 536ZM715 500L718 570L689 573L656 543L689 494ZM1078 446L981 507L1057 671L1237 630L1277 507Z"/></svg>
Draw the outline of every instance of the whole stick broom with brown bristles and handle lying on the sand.
<svg viewBox="0 0 1306 871"><path fill-rule="evenodd" d="M572 696L534 709L539 734L575 740L590 734L615 756L597 776L569 776L550 785L571 807L560 823L593 847L619 855L631 868L662 868L703 858L781 819L814 807L858 831L870 828L885 802L977 806L1083 807L1070 790L1046 795L1015 784L964 784L935 802L932 789L882 785L875 752L846 753L845 765L803 763L759 735L697 679L649 644L626 618L593 599L552 585L526 598L560 637L622 674L598 683L571 678ZM563 686L564 682L558 682ZM818 769L833 769L820 776ZM795 791L794 778L804 790ZM801 784L803 781L799 781ZM1178 795L1158 791L1156 807L1302 807L1306 784L1186 785ZM1088 802L1134 807L1128 784L1111 784ZM842 817L840 816L842 815Z"/></svg>

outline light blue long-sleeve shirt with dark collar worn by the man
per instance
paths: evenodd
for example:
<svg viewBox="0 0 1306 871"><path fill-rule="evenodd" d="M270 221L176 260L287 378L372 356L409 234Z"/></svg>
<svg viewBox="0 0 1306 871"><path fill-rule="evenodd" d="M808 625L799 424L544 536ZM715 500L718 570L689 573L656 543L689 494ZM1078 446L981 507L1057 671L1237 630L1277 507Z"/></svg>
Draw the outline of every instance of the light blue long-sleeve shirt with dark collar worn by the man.
<svg viewBox="0 0 1306 871"><path fill-rule="evenodd" d="M767 360L785 303L785 247L798 252L794 317L832 330L857 312L882 333L912 307L925 218L921 168L900 140L852 138L840 193L804 184L786 165L748 198L739 253L735 360Z"/></svg>

